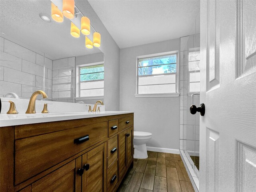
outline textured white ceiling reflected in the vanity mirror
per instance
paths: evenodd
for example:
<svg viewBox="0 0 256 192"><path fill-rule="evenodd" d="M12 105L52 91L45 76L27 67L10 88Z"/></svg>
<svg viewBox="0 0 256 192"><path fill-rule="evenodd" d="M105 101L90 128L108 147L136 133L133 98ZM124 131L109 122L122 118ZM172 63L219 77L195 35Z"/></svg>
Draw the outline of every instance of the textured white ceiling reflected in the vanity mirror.
<svg viewBox="0 0 256 192"><path fill-rule="evenodd" d="M98 48L85 47L85 37L70 35L70 20L44 22L39 14L51 15L50 0L0 0L1 34L10 40L22 42L49 55L52 59L81 56L101 52Z"/></svg>

